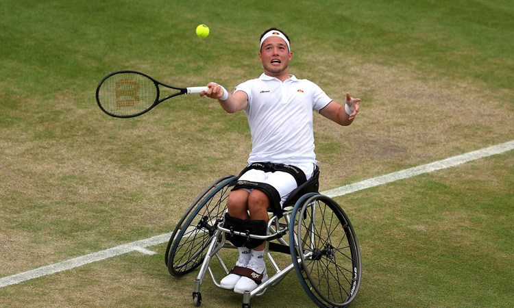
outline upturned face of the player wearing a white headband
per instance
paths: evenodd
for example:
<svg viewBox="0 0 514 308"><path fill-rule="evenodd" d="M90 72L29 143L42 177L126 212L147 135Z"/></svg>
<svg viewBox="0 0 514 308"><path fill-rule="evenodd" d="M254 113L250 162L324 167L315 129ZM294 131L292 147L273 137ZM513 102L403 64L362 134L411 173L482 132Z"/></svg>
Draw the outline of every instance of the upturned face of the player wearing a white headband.
<svg viewBox="0 0 514 308"><path fill-rule="evenodd" d="M270 36L260 48L259 60L266 75L287 78L287 67L293 53L287 48L286 42L278 36Z"/></svg>

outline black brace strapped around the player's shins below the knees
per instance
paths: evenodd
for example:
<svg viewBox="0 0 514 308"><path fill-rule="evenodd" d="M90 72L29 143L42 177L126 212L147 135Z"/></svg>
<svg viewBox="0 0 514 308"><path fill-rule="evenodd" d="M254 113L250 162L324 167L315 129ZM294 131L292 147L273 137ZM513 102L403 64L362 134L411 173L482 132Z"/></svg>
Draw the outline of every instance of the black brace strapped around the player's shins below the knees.
<svg viewBox="0 0 514 308"><path fill-rule="evenodd" d="M230 231L238 231L246 234L266 235L268 226L264 220L239 219L225 213L223 227L230 229ZM232 242L234 246L245 246L248 249L256 248L264 242L263 240L249 238L249 236L234 235L233 233L227 233L226 238Z"/></svg>

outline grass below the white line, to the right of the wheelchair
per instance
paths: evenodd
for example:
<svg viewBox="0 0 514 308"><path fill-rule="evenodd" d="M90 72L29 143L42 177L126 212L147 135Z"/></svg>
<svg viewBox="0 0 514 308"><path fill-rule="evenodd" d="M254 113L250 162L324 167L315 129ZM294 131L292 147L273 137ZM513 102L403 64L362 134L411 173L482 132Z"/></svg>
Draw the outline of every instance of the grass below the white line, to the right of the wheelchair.
<svg viewBox="0 0 514 308"><path fill-rule="evenodd" d="M362 292L380 294L359 299L363 307L510 307L512 164L501 155L354 194L347 202L370 258ZM405 186L411 194L397 194Z"/></svg>

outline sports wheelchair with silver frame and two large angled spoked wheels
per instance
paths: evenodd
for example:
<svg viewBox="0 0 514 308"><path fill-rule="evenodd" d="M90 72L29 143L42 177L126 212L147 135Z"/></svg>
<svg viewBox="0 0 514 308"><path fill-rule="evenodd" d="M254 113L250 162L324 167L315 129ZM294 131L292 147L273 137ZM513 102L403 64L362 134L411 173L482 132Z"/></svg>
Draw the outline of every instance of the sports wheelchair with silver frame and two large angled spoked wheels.
<svg viewBox="0 0 514 308"><path fill-rule="evenodd" d="M267 266L269 279L243 294L243 308L249 308L252 297L264 294L292 270L319 307L350 305L362 274L358 240L343 209L332 198L319 194L319 170L291 192L279 213L269 209L265 236L223 227L228 194L237 179L233 175L221 177L204 190L182 216L169 240L164 262L171 275L182 276L200 267L194 281L193 304L201 305L200 288L207 272L213 283L221 287L217 275L223 278L232 268L225 266L223 256L227 255L223 251L228 249L222 248L236 248L226 240L226 235L235 234L265 240L265 255L271 264ZM284 254L291 255L291 264L282 266L276 261ZM230 259L231 266L236 258L234 255Z"/></svg>

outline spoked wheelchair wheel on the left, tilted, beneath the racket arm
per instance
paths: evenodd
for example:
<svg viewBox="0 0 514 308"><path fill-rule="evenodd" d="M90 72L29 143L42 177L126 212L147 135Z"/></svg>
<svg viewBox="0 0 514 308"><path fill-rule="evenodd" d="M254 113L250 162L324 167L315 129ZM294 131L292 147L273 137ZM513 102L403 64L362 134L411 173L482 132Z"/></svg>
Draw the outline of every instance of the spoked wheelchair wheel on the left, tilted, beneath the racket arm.
<svg viewBox="0 0 514 308"><path fill-rule="evenodd" d="M165 262L173 276L195 270L226 211L226 200L236 177L227 176L204 190L182 216L169 239Z"/></svg>

